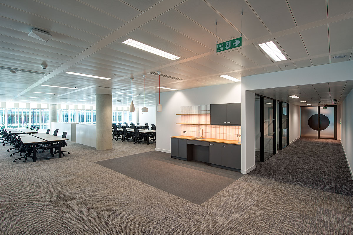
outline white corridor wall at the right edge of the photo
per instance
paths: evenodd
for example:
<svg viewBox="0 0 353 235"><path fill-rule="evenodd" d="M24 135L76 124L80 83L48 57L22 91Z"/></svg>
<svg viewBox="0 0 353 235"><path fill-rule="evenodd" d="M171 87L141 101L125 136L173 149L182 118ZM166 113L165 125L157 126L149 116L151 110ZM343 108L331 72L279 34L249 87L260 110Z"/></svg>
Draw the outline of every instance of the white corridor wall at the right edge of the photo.
<svg viewBox="0 0 353 235"><path fill-rule="evenodd" d="M353 90L341 105L341 142L353 178Z"/></svg>

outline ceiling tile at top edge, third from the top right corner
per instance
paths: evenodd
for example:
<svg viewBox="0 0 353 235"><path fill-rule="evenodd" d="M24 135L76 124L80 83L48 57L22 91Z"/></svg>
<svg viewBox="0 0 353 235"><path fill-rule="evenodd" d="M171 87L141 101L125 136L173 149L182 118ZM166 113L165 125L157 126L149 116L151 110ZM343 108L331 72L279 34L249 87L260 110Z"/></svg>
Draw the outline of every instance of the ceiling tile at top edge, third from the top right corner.
<svg viewBox="0 0 353 235"><path fill-rule="evenodd" d="M296 27L287 1L247 0L271 33Z"/></svg>

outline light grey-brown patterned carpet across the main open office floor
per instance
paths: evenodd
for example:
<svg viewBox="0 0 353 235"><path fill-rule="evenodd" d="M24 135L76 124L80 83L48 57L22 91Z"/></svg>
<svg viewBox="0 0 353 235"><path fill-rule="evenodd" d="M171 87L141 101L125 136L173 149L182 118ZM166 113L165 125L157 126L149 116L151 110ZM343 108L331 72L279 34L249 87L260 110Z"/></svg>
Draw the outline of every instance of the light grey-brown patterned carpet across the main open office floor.
<svg viewBox="0 0 353 235"><path fill-rule="evenodd" d="M0 146L0 234L353 234L353 197L294 184L301 175L283 182L255 171L198 205L96 164L155 148L113 145L97 151L68 142L70 155L46 160L45 153L38 154L36 163L13 163L8 147ZM291 146L288 155L296 151ZM283 178L291 167L297 166L279 169L286 170Z"/></svg>

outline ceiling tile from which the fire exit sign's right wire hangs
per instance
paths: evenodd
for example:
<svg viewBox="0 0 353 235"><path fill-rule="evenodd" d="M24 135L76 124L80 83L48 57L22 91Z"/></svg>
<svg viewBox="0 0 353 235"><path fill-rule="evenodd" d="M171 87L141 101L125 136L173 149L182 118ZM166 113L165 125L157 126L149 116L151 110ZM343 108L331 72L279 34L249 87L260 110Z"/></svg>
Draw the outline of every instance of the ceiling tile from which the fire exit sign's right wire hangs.
<svg viewBox="0 0 353 235"><path fill-rule="evenodd" d="M269 34L264 24L259 20L251 8L243 0L227 0L220 4L219 0L207 2L223 15L231 24L242 30L246 38L254 39ZM243 11L243 16L241 15Z"/></svg>

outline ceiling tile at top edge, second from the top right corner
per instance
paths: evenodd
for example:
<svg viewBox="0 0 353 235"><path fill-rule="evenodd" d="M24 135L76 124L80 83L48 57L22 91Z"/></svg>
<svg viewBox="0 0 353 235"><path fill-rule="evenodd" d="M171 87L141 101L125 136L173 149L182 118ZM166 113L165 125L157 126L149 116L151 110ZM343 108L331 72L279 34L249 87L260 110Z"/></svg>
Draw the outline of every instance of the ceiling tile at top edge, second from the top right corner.
<svg viewBox="0 0 353 235"><path fill-rule="evenodd" d="M295 23L297 23L298 26L326 19L326 3L326 0L288 0Z"/></svg>

